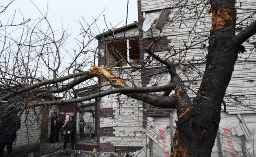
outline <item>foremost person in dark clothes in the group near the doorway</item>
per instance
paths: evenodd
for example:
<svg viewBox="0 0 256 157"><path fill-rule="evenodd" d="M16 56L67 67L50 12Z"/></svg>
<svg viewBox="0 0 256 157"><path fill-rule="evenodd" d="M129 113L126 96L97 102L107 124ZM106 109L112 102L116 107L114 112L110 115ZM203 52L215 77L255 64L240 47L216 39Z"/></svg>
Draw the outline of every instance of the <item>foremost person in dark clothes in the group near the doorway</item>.
<svg viewBox="0 0 256 157"><path fill-rule="evenodd" d="M69 117L69 122L67 122L66 126L64 127L64 130L67 133L65 135L65 141L64 141L63 149L64 150L66 149L67 142L69 141L69 137L70 137L71 148L72 148L72 150L74 150L75 136L76 136L76 122L74 121L73 116Z"/></svg>

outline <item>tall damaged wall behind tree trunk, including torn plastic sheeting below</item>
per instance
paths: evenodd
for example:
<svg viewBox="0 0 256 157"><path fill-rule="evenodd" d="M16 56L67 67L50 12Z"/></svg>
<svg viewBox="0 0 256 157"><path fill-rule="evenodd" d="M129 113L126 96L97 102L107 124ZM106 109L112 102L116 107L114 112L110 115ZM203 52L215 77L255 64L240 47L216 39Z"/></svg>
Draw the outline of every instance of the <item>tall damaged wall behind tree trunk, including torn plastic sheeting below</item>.
<svg viewBox="0 0 256 157"><path fill-rule="evenodd" d="M179 2L179 1L178 0L174 0L174 1L138 0L138 15L139 15L140 26L142 26L143 21L145 20L145 17L149 13L154 13L156 18L159 18L160 10L167 9L171 5L175 4L176 2ZM204 7L205 3L206 1L199 5L200 9ZM238 22L241 22L241 20L244 20L246 17L251 15L252 12L247 9L254 9L256 7L256 4L253 0L241 0L239 1L239 3L236 4L236 6L241 8L237 10L237 23L238 23ZM178 7L171 9L169 20L165 22L165 24L163 24L162 29L156 28L156 22L155 22L152 25L152 31L148 31L147 33L140 31L140 47L145 47L148 44L150 44L148 39L151 38L152 36L159 37L160 35L164 35L166 37L165 44L164 44L165 46L169 45L176 50L180 50L180 47L184 47L184 42L190 43L192 40L197 38L197 35L195 33L189 33L192 27L195 30L195 32L199 33L200 41L206 39L206 37L210 35L210 28L211 28L211 22L212 22L211 14L206 14L204 17L200 19L200 22L198 21L197 25L195 25L195 18L191 18L186 14L183 17L182 22L179 18L175 19L174 15L178 13L179 11L178 9L179 9ZM187 10L185 9L185 11ZM174 20L175 22L172 22L172 24L170 24L169 23L170 20ZM252 18L246 19L242 23L250 24L254 20L256 20L256 15L254 15ZM239 33L243 28L244 26L237 27L236 33ZM203 37L204 35L205 37ZM256 35L252 36L251 38L249 38L249 40L243 43L243 46L245 46L245 49L247 50L247 52L245 52L244 54L238 55L237 63L234 67L234 72L230 80L230 84L226 89L226 96L224 97L224 101L226 102L226 112L229 114L221 113L221 123L219 127L219 131L220 131L219 139L221 139L219 144L221 144L221 149L222 149L221 154L224 157L243 156L243 149L242 149L243 140L241 136L238 136L238 135L243 134L242 130L244 127L242 127L242 124L239 123L239 118L237 117L236 114L242 114L241 117L245 119L245 123L247 124L247 127L249 128L249 132L250 132L249 139L244 140L245 147L246 147L246 149L244 149L244 153L246 153L247 156L255 156L252 153L253 149L255 151L255 148L254 148L255 143L253 142L253 139L255 135L254 130L255 130L255 122L256 122L256 119L255 119L256 55L254 52L252 52L252 51L255 51L255 48L254 48L255 43L256 43ZM163 45L162 42L158 43L158 45L154 49L152 49L152 51L154 51L155 55L158 55L160 58L166 59L170 55L168 54L167 50L165 50L164 48L161 48L162 45ZM147 53L144 53L143 48L141 49L140 53L143 54L143 58L146 58L148 56ZM171 53L174 53L174 51L171 50ZM186 58L182 58L182 60L184 61L201 60L204 57L206 57L207 53L208 53L208 42L204 42L201 45L194 46L193 49L187 50ZM184 52L180 54L180 56L183 56L183 55L184 55ZM178 55L174 56L173 57L174 62L177 63L178 61L180 61L181 59L179 58L180 56ZM153 61L153 63L155 62ZM199 71L204 71L205 69L204 64L198 65L196 62L191 62L191 63L197 66ZM150 68L143 69L142 77L150 75L152 73L158 73L163 70L164 69L162 67L156 64L155 66L150 66ZM197 71L191 71L190 69L181 65L176 66L176 70L179 76L184 81L185 85L189 86L189 88L195 91L198 90L200 86L201 78L198 77ZM158 79L158 78L161 78L161 79ZM163 73L162 75L156 75L154 77L143 79L142 85L143 86L155 86L155 85L160 86L160 85L166 84L166 82L169 79L170 78L168 74ZM193 82L191 80L193 80ZM189 94L189 97L191 97L191 99L195 96L190 89L188 89L187 93ZM224 108L222 109L224 110ZM154 120L156 120L156 122L158 122L158 120L160 119L158 119L158 117L156 116L161 116L161 115L166 116L168 114L168 111L166 111L166 109L154 108L153 106L149 105L148 108L144 109L144 113L145 113L144 114L145 117L153 118ZM248 114L244 114L244 113L248 113ZM250 113L254 113L254 114L250 114ZM163 119L167 120L169 119L169 117L168 116L163 117ZM174 117L173 120L176 120L176 117ZM147 122L147 120L143 121L143 124L146 125L147 123L145 122ZM173 124L174 124L173 127L175 128L175 122ZM160 133L158 131L156 132L158 133L157 138L161 139ZM158 146L155 142L153 143L157 147L154 147L154 149L152 150L154 151L159 149L159 151L155 153L153 152L153 155L151 154L151 156L155 157L155 155L158 153L162 153L160 156L165 156L165 154L163 154L163 152L165 152L163 148L160 148L160 146ZM213 153L211 155L212 157L220 156L219 154L220 151L218 151L217 147L218 147L218 143L216 138L215 146L213 147Z"/></svg>

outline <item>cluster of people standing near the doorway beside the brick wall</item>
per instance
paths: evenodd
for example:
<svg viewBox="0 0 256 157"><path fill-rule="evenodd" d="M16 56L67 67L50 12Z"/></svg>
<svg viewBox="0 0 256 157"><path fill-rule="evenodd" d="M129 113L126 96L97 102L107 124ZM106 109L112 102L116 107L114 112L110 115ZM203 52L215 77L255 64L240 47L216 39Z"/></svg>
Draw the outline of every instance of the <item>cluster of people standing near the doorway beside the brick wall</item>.
<svg viewBox="0 0 256 157"><path fill-rule="evenodd" d="M50 142L58 142L59 141L59 133L61 132L61 137L63 139L64 136L64 146L63 149L66 148L67 143L71 142L71 148L74 150L75 144L75 135L76 135L76 121L74 116L70 116L69 114L65 115L65 119L62 115L57 117L57 113L54 112L51 121L51 134L50 134ZM80 128L80 139L83 138L83 132L85 127L85 121L80 119L79 128Z"/></svg>

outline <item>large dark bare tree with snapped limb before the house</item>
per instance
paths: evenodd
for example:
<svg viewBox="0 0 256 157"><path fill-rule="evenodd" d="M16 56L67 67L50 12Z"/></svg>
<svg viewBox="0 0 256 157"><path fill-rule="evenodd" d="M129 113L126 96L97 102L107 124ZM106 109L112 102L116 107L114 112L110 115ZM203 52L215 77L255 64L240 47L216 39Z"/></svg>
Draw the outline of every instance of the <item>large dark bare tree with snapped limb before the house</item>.
<svg viewBox="0 0 256 157"><path fill-rule="evenodd" d="M186 14L186 6L190 5L189 2L189 0L185 0L182 1L182 4L174 4L180 9L175 18L183 18L183 15ZM195 5L199 5L200 2ZM154 106L176 109L178 121L172 150L173 157L210 157L221 119L221 104L234 70L237 55L239 51L243 51L241 44L256 33L256 21L235 35L237 9L235 1L210 0L206 5L210 5L208 12L212 14L212 27L210 35L205 40L191 42L190 45L184 43L181 50L173 49L173 54L164 59L152 51L154 44L163 38L163 36L159 36L154 38L154 42L145 49L148 57L141 62L140 66L132 66L134 71L140 71L148 66L154 66L154 64L164 66L165 70L162 72L168 72L171 75L171 82L167 82L168 84L164 86L136 87L133 85L129 87L126 83L128 80L123 80L121 76L112 75L108 71L111 70L111 66L109 69L96 66L97 47L94 49L89 47L89 44L95 39L95 33L90 29L91 24L87 24L85 20L82 20L85 25L82 24L82 21L79 22L82 26L80 34L82 40L77 40L79 49L78 51L74 50L72 52L74 54L63 49L65 40L69 37L66 34L67 30L63 29L59 33L60 35L56 35L57 33L52 30L46 16L43 16L38 22L34 22L33 25L28 25L30 23L24 21L21 25L22 28L19 29L22 35L18 39L12 38L5 28L1 28L1 42L4 45L0 52L1 108L9 104L17 104L13 113L18 113L30 107L59 106L120 93ZM203 7L204 11L206 9L207 7ZM252 15L254 14L255 10ZM200 16L196 18L195 26L201 17L200 13L198 15ZM45 22L47 27L42 28L41 22ZM6 42L7 40L12 42ZM193 46L205 41L209 43L207 56L198 60L198 65L206 62L204 72L185 60L174 62L175 55L182 56ZM70 55L72 61L69 67L64 68L61 67L63 59L61 55L66 54ZM89 58L94 59L91 61ZM83 71L84 67L92 63L94 64L93 68ZM200 88L195 92L196 97L193 101L189 99L187 86L176 72L177 65L191 68L202 75ZM60 68L62 69L60 70ZM73 69L73 73L70 73L70 69ZM128 73L122 68L121 71ZM93 79L95 77L105 80L108 84L98 84L97 80ZM73 97L70 95L74 94L74 87L81 86L81 84L84 87L96 84L96 87L93 88L97 89L103 86L111 86L114 89L101 90L92 95L72 99ZM175 91L175 93L170 95L171 91ZM163 94L155 92L163 92ZM56 93L62 97L61 100L54 98ZM41 99L49 94L53 100Z"/></svg>

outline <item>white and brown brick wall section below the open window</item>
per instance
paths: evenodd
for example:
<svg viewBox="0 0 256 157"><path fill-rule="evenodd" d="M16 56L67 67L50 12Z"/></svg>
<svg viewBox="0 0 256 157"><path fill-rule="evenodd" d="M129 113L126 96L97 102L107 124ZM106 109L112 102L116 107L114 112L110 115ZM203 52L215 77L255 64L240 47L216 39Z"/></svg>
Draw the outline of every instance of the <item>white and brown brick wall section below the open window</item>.
<svg viewBox="0 0 256 157"><path fill-rule="evenodd" d="M116 76L122 75L124 79L133 79L137 86L141 86L140 73L122 73L119 69L112 71ZM122 74L120 74L122 73ZM126 82L132 86L130 82ZM142 103L130 99L125 95L116 94L105 96L98 104L98 140L101 152L121 150L135 152L146 143L145 135L141 133L143 122Z"/></svg>

